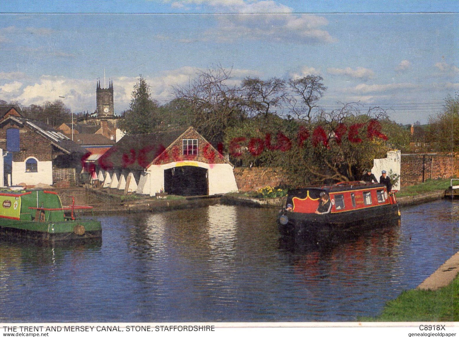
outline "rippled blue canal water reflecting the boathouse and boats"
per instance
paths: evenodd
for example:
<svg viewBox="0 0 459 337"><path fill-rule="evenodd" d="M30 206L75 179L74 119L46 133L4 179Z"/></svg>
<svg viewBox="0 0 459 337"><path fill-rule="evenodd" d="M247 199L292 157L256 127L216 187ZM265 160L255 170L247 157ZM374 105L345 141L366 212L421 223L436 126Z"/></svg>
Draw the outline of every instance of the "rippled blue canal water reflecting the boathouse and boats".
<svg viewBox="0 0 459 337"><path fill-rule="evenodd" d="M282 240L277 210L101 216L101 242L1 239L1 322L355 321L459 250L459 203L330 243Z"/></svg>

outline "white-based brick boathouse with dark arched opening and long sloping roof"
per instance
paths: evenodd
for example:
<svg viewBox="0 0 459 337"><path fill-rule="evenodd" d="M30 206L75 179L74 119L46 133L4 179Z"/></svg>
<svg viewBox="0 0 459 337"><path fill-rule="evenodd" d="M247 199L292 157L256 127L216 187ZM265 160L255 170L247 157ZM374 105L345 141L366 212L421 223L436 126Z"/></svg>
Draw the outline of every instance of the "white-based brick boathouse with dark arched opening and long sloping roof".
<svg viewBox="0 0 459 337"><path fill-rule="evenodd" d="M105 188L151 196L237 191L231 163L193 127L124 136L97 160L93 177Z"/></svg>

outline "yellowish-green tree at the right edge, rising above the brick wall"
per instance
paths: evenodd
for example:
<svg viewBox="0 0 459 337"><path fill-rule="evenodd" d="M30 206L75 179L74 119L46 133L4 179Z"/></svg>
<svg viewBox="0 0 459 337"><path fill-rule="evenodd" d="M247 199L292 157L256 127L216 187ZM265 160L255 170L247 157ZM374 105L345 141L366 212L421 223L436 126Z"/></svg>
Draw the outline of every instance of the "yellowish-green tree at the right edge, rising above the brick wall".
<svg viewBox="0 0 459 337"><path fill-rule="evenodd" d="M431 116L429 124L427 137L437 150L459 149L459 92L447 96L443 111Z"/></svg>

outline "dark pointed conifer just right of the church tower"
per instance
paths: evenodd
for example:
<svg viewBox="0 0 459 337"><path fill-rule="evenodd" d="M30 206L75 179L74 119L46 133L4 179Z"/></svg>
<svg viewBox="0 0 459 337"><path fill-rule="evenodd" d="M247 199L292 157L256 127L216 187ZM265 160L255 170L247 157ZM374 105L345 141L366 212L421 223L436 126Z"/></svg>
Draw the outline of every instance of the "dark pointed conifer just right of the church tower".
<svg viewBox="0 0 459 337"><path fill-rule="evenodd" d="M150 86L145 78L140 76L134 85L129 110L125 111L119 127L129 134L151 133L159 125L158 102L151 99Z"/></svg>

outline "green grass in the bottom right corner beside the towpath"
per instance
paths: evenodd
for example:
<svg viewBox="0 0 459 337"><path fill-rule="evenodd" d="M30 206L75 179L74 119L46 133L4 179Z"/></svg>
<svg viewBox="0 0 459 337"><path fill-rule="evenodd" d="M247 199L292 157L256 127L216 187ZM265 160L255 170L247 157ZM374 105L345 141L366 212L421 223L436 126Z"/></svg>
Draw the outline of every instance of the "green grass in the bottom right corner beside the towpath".
<svg viewBox="0 0 459 337"><path fill-rule="evenodd" d="M459 321L459 276L438 290L408 290L386 303L378 317L359 317L368 322Z"/></svg>

